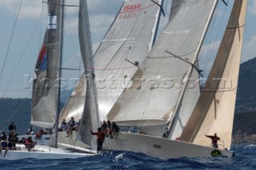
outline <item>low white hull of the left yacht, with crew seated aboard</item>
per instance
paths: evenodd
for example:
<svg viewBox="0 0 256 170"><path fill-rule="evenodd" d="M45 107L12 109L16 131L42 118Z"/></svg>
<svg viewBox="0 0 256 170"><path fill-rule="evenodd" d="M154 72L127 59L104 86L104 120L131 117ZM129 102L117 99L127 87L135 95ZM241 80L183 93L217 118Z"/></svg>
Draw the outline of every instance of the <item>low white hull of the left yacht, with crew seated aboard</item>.
<svg viewBox="0 0 256 170"><path fill-rule="evenodd" d="M82 144L82 142L75 140L75 132L70 137L65 137L66 132L59 132L58 135L58 148L51 147L54 141L54 136L50 134L44 134L40 139L35 139L35 135L18 136L19 140L21 140L22 137L28 138L31 136L32 140L34 140L34 142L37 144L35 144L32 151L28 151L24 144L16 144L18 150L8 150L6 152L6 156L4 156L5 151L2 151L0 153L0 159L75 159L85 156L94 156L97 153L96 151L88 149L88 145Z"/></svg>

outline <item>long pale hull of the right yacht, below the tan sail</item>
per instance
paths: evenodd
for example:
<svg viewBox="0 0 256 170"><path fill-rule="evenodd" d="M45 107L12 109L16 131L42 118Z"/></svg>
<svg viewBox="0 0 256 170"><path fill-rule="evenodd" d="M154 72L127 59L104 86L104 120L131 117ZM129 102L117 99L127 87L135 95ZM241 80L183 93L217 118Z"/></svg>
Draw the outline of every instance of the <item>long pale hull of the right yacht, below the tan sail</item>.
<svg viewBox="0 0 256 170"><path fill-rule="evenodd" d="M106 150L125 150L142 152L149 156L162 158L210 157L215 149L197 144L169 140L161 137L122 132L114 139L106 139L103 145ZM233 152L218 149L222 156L232 156ZM219 153L218 152L218 153ZM216 156L216 155L215 155Z"/></svg>

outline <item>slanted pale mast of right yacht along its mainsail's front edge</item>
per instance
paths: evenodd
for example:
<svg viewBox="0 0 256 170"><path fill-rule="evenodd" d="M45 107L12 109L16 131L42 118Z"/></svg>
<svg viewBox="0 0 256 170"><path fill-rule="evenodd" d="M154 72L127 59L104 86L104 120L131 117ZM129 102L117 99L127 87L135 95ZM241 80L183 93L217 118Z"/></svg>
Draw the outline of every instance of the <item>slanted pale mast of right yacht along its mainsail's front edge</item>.
<svg viewBox="0 0 256 170"><path fill-rule="evenodd" d="M210 11L210 17L209 17L208 20L207 20L205 30L203 31L202 38L201 38L201 40L200 40L200 42L199 42L199 45L198 45L198 49L197 49L196 53L194 54L194 59L193 59L193 61L191 62L192 65L190 66L189 75L188 75L188 80L190 79L190 77L191 77L191 75L192 75L192 72L193 72L193 69L194 69L193 65L196 65L196 61L198 61L198 54L199 54L199 52L200 52L200 49L202 48L202 42L203 42L204 39L206 38L206 32L207 32L207 30L209 29L210 22L211 22L211 20L212 20L212 18L213 18L213 16L214 16L214 11L215 11L215 9L216 9L217 3L218 3L218 1L216 0L216 1L214 2L213 8L212 8L211 11ZM197 66L195 66L195 67L197 67ZM198 73L198 74L199 74L199 73ZM172 117L170 117L170 119L168 120L168 121L170 121L170 124L169 124L169 126L168 126L168 129L169 129L168 132L170 132L170 129L173 127L174 119L175 119L175 117L177 117L178 109L181 107L182 98L184 97L184 94L185 94L185 91L186 91L186 89L187 89L188 83L189 83L189 81L186 81L186 83L183 85L183 87L182 87L183 89L182 89L181 95L180 95L180 97L179 97L179 99L178 99L178 104L176 105L176 107L175 107L175 109L174 109L174 114L173 114ZM188 90L190 90L190 89L188 89ZM198 93L199 93L199 92L198 92ZM168 135L169 135L169 134L168 134Z"/></svg>

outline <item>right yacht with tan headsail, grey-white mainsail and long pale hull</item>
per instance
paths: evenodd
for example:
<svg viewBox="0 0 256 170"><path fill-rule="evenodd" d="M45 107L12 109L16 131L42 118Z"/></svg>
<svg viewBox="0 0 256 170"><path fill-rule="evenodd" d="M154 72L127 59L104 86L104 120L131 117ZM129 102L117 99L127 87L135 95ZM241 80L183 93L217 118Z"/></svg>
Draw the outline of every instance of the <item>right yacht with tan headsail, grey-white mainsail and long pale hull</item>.
<svg viewBox="0 0 256 170"><path fill-rule="evenodd" d="M130 1L134 3L134 1ZM105 149L150 156L232 156L230 151L246 0L235 0L206 86L198 53L218 0L173 0L170 22L106 115L122 132ZM96 74L97 77L97 74ZM99 110L104 101L99 98ZM102 101L100 101L102 100ZM107 101L106 101L107 102ZM217 133L218 148L205 135Z"/></svg>

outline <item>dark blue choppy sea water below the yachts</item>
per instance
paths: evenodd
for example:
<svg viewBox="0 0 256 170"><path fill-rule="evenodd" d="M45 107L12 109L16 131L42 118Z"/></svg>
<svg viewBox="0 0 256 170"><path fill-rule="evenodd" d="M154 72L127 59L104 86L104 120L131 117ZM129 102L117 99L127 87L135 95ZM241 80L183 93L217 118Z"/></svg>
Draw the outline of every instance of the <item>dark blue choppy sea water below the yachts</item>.
<svg viewBox="0 0 256 170"><path fill-rule="evenodd" d="M135 152L103 152L75 160L0 160L0 169L256 169L256 145L235 145L232 158L163 160Z"/></svg>

